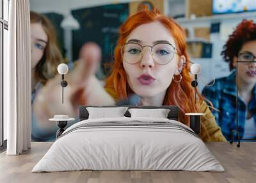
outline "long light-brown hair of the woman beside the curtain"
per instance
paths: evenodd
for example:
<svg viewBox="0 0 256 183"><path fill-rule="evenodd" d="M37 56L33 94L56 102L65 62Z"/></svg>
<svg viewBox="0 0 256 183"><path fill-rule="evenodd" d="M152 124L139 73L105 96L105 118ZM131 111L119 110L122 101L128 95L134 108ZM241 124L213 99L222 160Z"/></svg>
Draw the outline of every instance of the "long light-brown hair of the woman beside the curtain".
<svg viewBox="0 0 256 183"><path fill-rule="evenodd" d="M35 68L35 79L40 81L42 84L45 84L49 79L56 76L58 65L64 61L57 45L55 29L50 20L44 15L31 11L30 23L41 24L48 37L44 55Z"/></svg>

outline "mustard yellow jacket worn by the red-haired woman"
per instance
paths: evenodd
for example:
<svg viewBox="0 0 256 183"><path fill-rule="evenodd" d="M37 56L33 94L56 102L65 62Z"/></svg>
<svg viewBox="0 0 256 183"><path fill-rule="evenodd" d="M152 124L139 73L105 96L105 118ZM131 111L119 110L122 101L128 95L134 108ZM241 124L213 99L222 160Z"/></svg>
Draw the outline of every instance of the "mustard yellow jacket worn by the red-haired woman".
<svg viewBox="0 0 256 183"><path fill-rule="evenodd" d="M112 90L111 88L105 88L106 91L115 99L118 101L117 93ZM201 132L200 132L200 138L205 141L227 141L225 137L223 136L220 127L215 122L215 117L212 115L211 110L207 106L206 102L203 101L200 104L200 113L205 113L205 116L201 117Z"/></svg>

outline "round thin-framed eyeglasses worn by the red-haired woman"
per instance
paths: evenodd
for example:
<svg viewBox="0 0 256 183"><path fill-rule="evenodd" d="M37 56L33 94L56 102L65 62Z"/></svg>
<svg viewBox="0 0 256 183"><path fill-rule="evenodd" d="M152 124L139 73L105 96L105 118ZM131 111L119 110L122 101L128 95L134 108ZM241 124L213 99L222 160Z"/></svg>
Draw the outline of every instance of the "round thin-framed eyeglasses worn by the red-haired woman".
<svg viewBox="0 0 256 183"><path fill-rule="evenodd" d="M159 65L168 64L173 60L174 55L177 54L177 49L172 44L157 43L150 46L129 42L124 44L121 49L123 60L131 64L138 63L145 53L144 47L150 47L151 56Z"/></svg>

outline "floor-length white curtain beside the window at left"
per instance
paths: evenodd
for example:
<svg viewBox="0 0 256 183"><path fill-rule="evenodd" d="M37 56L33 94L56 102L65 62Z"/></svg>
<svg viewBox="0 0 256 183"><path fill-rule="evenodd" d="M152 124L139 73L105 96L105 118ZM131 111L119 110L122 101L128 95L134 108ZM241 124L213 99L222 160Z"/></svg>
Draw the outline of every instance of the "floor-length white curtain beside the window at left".
<svg viewBox="0 0 256 183"><path fill-rule="evenodd" d="M4 63L4 120L7 152L18 155L31 146L31 63L29 0L10 1L8 58Z"/></svg>

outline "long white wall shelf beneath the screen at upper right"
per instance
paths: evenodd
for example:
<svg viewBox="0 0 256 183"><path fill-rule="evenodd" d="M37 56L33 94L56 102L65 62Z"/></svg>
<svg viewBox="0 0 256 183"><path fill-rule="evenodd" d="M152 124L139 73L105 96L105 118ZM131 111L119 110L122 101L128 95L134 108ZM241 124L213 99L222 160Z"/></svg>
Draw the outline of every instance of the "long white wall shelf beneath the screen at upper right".
<svg viewBox="0 0 256 183"><path fill-rule="evenodd" d="M220 22L221 20L241 20L241 19L256 19L256 12L243 12L243 13L232 13L223 15L212 15L209 17L197 17L195 19L178 18L175 19L182 27L201 27L211 26L211 23Z"/></svg>

